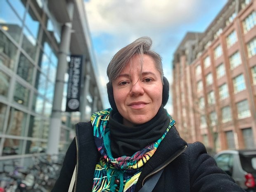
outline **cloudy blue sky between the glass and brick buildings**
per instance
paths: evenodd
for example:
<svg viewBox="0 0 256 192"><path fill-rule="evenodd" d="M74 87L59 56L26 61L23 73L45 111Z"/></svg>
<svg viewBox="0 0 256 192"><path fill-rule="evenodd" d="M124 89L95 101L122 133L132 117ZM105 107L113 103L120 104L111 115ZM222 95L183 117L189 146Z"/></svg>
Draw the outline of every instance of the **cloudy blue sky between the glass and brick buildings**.
<svg viewBox="0 0 256 192"><path fill-rule="evenodd" d="M85 12L95 52L98 81L107 99L106 69L122 47L149 36L162 57L164 76L172 83L173 54L187 32L204 32L227 0L85 0ZM171 94L171 92L170 92ZM172 113L169 97L165 108Z"/></svg>

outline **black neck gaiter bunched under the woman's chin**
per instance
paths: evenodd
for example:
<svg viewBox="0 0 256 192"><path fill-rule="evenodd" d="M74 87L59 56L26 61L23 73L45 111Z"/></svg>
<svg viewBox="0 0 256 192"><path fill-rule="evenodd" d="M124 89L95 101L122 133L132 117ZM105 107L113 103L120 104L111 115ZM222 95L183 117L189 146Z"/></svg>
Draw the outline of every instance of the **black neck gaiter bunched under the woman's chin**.
<svg viewBox="0 0 256 192"><path fill-rule="evenodd" d="M170 119L163 105L156 116L147 123L134 127L124 126L123 117L115 112L110 113L109 128L111 138L111 152L114 158L133 156L147 145L158 140L166 131Z"/></svg>

